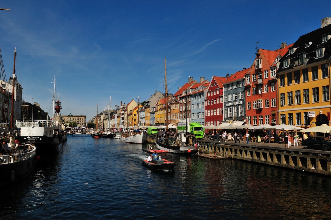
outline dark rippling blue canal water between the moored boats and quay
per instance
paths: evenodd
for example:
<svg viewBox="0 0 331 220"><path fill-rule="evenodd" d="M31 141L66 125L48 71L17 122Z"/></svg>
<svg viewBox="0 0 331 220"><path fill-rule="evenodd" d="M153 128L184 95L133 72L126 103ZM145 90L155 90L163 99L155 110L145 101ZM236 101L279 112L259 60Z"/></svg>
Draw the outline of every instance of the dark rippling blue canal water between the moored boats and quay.
<svg viewBox="0 0 331 220"><path fill-rule="evenodd" d="M147 156L140 144L69 136L1 189L0 219L331 219L331 178L176 154L162 155L174 172L160 172Z"/></svg>

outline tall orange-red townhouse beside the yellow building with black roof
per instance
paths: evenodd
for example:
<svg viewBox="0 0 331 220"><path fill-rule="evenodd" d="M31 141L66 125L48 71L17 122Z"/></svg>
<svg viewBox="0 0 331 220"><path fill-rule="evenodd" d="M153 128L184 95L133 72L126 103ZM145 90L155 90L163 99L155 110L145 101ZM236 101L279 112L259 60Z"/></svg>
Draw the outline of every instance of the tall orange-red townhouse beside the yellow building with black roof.
<svg viewBox="0 0 331 220"><path fill-rule="evenodd" d="M254 64L245 75L247 124L277 124L277 64L290 46L282 43L277 50L258 49Z"/></svg>

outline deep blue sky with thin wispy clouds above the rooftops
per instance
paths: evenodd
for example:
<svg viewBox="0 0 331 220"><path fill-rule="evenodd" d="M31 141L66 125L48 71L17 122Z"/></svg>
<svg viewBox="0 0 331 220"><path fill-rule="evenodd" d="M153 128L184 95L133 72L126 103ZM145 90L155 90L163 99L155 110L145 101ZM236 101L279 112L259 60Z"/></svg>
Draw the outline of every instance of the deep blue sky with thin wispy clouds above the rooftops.
<svg viewBox="0 0 331 220"><path fill-rule="evenodd" d="M270 3L269 3L270 2ZM52 80L63 115L87 120L109 104L147 100L193 77L248 68L255 47L275 50L320 28L329 1L1 1L0 48L23 99L52 113Z"/></svg>

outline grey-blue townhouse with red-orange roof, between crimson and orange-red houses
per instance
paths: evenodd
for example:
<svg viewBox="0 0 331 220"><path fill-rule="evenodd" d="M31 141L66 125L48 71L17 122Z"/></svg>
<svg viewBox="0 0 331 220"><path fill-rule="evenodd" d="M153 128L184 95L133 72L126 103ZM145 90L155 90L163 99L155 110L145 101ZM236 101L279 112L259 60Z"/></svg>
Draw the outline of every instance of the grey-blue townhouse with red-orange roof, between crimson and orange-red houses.
<svg viewBox="0 0 331 220"><path fill-rule="evenodd" d="M222 125L243 125L246 122L245 76L250 69L243 69L226 77L223 84Z"/></svg>

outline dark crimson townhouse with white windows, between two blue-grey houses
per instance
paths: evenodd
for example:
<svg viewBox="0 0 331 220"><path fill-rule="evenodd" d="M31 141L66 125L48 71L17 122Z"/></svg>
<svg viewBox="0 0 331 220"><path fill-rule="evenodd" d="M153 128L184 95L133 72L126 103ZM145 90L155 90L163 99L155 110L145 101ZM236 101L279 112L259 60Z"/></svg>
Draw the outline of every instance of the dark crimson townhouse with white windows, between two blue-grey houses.
<svg viewBox="0 0 331 220"><path fill-rule="evenodd" d="M226 77L213 76L205 98L205 126L220 125L223 121L223 84Z"/></svg>

